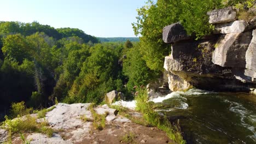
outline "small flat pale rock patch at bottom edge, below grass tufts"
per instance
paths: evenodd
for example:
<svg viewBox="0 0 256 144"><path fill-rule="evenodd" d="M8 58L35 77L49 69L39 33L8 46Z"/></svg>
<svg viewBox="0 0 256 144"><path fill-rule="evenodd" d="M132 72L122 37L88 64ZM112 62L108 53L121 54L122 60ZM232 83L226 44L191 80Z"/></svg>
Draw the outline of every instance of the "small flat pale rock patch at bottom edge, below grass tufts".
<svg viewBox="0 0 256 144"><path fill-rule="evenodd" d="M71 144L71 141L65 141L62 137L58 134L53 134L53 137L48 137L44 134L31 134L27 136L27 140L31 140L31 144L38 144L38 143L51 143L51 144Z"/></svg>

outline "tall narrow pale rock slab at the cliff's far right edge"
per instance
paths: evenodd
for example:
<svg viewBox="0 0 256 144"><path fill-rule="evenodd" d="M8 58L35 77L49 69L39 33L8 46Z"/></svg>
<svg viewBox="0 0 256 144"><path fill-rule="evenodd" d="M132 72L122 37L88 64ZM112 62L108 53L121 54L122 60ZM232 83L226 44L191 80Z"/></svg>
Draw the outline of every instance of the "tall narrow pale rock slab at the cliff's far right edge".
<svg viewBox="0 0 256 144"><path fill-rule="evenodd" d="M246 68L256 71L256 29L253 30L253 38L246 51Z"/></svg>

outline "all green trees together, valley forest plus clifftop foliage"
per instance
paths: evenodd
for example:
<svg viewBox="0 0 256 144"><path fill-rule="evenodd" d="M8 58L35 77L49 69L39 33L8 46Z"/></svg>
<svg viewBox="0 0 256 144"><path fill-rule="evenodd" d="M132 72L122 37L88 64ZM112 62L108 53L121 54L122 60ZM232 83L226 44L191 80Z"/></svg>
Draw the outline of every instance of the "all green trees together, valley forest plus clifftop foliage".
<svg viewBox="0 0 256 144"><path fill-rule="evenodd" d="M92 37L77 28L57 28L38 22L0 22L0 105L25 101L38 108L65 103L101 103L112 90L131 98L132 87L161 76L171 52L162 28L181 21L188 34L210 34L207 11L251 0L159 0L138 9L135 34L125 43L100 43L123 38ZM252 2L251 2L252 3Z"/></svg>

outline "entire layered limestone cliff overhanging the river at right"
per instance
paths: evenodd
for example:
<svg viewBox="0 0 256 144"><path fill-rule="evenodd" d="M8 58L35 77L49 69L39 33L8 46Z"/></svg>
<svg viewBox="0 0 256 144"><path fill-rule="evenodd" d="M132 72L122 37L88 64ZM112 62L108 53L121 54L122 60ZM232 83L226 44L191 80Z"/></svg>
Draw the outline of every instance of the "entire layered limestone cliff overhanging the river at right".
<svg viewBox="0 0 256 144"><path fill-rule="evenodd" d="M189 37L179 22L163 29L163 40L172 44L164 64L169 88L256 93L256 17L236 20L232 8L208 15L216 29L200 40Z"/></svg>

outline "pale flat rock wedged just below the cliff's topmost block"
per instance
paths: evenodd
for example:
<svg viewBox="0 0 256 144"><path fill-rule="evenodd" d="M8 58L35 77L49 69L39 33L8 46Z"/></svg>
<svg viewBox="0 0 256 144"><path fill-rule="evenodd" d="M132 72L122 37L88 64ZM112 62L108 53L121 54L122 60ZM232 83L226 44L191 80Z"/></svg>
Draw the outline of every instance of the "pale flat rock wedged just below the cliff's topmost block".
<svg viewBox="0 0 256 144"><path fill-rule="evenodd" d="M229 23L220 23L215 26L214 33L242 33L246 30L248 23L244 20L234 21Z"/></svg>

